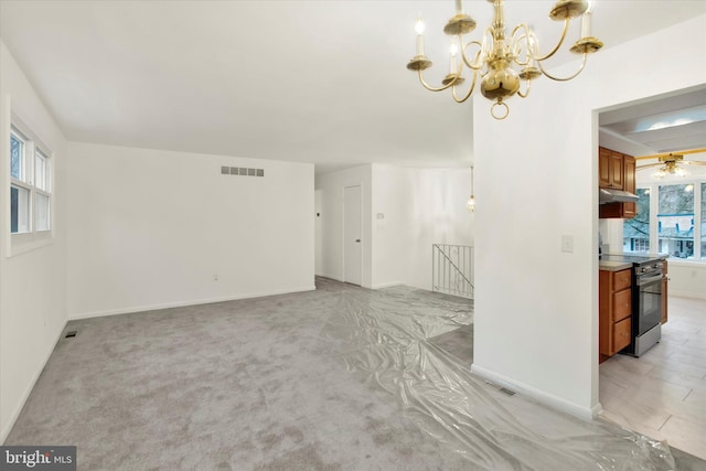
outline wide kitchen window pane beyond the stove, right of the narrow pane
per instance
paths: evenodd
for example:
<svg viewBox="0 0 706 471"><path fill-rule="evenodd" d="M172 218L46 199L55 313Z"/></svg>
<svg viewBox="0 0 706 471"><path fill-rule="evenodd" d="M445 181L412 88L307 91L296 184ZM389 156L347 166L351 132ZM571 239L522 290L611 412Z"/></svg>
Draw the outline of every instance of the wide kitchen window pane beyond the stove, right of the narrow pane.
<svg viewBox="0 0 706 471"><path fill-rule="evenodd" d="M657 239L660 254L694 258L694 184L660 186Z"/></svg>

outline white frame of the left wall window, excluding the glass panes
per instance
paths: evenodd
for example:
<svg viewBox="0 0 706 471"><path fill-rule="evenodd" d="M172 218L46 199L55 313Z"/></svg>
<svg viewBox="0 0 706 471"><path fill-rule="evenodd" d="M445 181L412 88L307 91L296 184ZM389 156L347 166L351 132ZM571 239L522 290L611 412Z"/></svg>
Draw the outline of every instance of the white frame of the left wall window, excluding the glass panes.
<svg viewBox="0 0 706 471"><path fill-rule="evenodd" d="M55 156L51 148L46 146L33 131L26 126L26 124L18 117L14 113L11 113L9 131L4 138L7 144L7 161L3 163L8 170L8 179L6 179L2 191L6 192L8 197L7 203L7 251L8 258L15 255L20 255L36 248L50 245L54 243L55 233L55 195L54 195L54 159ZM6 132L7 132L6 131ZM12 175L12 148L11 137L14 136L23 142L23 153L21 162L20 179ZM44 178L41 182L36 181L35 167L38 154L41 156L44 162ZM29 191L29 208L28 208L28 231L26 232L12 232L12 207L11 207L11 191L12 188L23 189ZM46 228L38 229L38 195L42 195L47 199L46 207Z"/></svg>

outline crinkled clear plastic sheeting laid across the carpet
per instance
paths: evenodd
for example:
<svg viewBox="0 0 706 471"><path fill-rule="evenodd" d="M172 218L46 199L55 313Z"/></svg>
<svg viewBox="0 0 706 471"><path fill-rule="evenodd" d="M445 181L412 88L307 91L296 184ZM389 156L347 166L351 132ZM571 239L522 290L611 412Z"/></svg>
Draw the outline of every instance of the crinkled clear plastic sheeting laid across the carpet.
<svg viewBox="0 0 706 471"><path fill-rule="evenodd" d="M327 282L320 281L324 289ZM486 382L471 375L470 364L429 342L473 322L470 300L408 287L349 288L340 290L335 312L321 336L335 345L349 371L394 396L402 414L458 450L469 460L469 468L675 469L665 443L602 419L571 417L573 426L558 437L523 424L522 417L499 400L502 393L493 395ZM556 415L561 413L552 411L546 420Z"/></svg>

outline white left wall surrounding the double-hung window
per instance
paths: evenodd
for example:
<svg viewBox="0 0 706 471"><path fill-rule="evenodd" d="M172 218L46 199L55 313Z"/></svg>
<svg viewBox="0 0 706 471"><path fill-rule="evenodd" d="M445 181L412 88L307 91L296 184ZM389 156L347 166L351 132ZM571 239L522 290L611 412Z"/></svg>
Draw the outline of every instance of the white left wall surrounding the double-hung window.
<svg viewBox="0 0 706 471"><path fill-rule="evenodd" d="M53 152L54 238L9 257L10 109ZM0 442L17 419L66 323L65 140L4 43L0 41Z"/></svg>

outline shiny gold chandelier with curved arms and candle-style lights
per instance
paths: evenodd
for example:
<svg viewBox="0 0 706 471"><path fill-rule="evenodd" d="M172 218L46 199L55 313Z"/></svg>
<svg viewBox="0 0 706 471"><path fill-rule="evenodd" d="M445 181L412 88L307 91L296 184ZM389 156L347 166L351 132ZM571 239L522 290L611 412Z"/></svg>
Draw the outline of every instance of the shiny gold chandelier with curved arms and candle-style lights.
<svg viewBox="0 0 706 471"><path fill-rule="evenodd" d="M440 87L430 86L424 78L422 71L431 67L431 61L424 55L424 30L421 18L417 21L417 53L407 64L407 68L419 74L419 81L425 88L431 92L452 89L453 99L457 103L466 101L481 74L481 94L495 103L491 107L491 115L495 119L505 119L510 108L505 99L517 94L525 98L530 94L533 79L545 75L554 81L570 81L584 71L588 54L600 50L603 43L590 35L590 15L588 1L586 0L559 0L549 12L549 18L555 21L564 20L564 30L557 44L546 54L539 52L539 44L535 34L525 23L516 25L507 39L505 36L504 0L488 0L493 3L493 23L483 33L482 41L469 41L464 43L463 35L475 29L475 21L463 12L462 0L456 0L456 15L451 17L443 32L450 36L458 36L458 44L451 43L450 72L441 81ZM549 74L543 62L556 54L564 44L571 19L584 17L581 24L581 38L576 41L570 51L582 54L584 61L579 69L568 77L556 77ZM460 53L461 61L457 55ZM457 94L457 87L466 78L461 75L463 66L468 67L473 77L469 90L461 97ZM520 72L515 69L520 68ZM524 90L521 90L521 82L525 82ZM496 109L500 108L500 109ZM504 113L503 113L504 111Z"/></svg>

